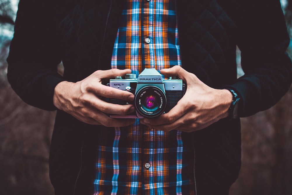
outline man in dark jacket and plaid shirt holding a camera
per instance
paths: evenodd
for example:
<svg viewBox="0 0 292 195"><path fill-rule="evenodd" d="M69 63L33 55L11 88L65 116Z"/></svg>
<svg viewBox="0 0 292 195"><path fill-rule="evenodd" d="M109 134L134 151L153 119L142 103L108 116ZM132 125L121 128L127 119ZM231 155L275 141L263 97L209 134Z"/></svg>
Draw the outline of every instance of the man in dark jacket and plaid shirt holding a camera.
<svg viewBox="0 0 292 195"><path fill-rule="evenodd" d="M58 109L55 194L228 194L240 169L239 117L288 90L288 43L276 0L20 0L8 79L27 103ZM135 108L105 98L134 95L107 80L144 68L183 79L183 98L156 118L110 118Z"/></svg>

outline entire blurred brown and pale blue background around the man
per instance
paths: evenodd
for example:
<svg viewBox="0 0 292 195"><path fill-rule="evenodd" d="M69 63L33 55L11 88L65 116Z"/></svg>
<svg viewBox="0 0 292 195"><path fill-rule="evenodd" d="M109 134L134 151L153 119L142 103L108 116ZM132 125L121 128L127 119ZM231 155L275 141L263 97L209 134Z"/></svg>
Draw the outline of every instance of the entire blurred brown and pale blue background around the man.
<svg viewBox="0 0 292 195"><path fill-rule="evenodd" d="M17 5L18 0L0 0L0 194L53 195L48 154L55 112L22 102L6 78ZM281 5L291 35L292 0ZM241 119L242 166L230 195L292 194L291 100L292 88L274 107Z"/></svg>

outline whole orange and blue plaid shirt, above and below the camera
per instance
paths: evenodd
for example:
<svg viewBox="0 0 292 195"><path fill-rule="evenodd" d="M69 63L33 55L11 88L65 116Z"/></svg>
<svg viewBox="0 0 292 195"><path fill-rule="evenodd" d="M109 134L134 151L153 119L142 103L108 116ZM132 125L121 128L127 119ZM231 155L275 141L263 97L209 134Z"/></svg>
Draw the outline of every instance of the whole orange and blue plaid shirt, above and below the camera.
<svg viewBox="0 0 292 195"><path fill-rule="evenodd" d="M112 68L180 65L173 0L127 0L117 33ZM194 194L189 151L182 132L140 125L101 130L93 194ZM192 164L192 163L191 163Z"/></svg>

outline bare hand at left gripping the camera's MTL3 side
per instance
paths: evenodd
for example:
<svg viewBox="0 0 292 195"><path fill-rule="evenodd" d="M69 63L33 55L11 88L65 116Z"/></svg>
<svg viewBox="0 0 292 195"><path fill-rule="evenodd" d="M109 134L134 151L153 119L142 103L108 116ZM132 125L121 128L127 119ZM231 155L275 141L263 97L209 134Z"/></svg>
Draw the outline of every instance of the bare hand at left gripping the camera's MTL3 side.
<svg viewBox="0 0 292 195"><path fill-rule="evenodd" d="M78 120L106 127L124 127L131 125L135 119L114 119L107 114L126 115L135 111L133 105L117 105L102 100L102 97L133 101L134 95L101 82L131 73L130 69L97 70L79 82L63 81L57 84L54 91L54 105Z"/></svg>

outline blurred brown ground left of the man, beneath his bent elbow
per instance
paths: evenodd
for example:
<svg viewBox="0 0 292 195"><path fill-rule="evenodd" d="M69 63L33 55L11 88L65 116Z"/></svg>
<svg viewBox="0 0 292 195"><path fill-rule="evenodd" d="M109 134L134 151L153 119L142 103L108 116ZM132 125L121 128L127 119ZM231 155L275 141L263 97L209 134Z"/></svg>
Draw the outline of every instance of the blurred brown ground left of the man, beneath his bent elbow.
<svg viewBox="0 0 292 195"><path fill-rule="evenodd" d="M29 106L15 94L5 56L0 53L0 194L51 195L48 155L55 112Z"/></svg>

